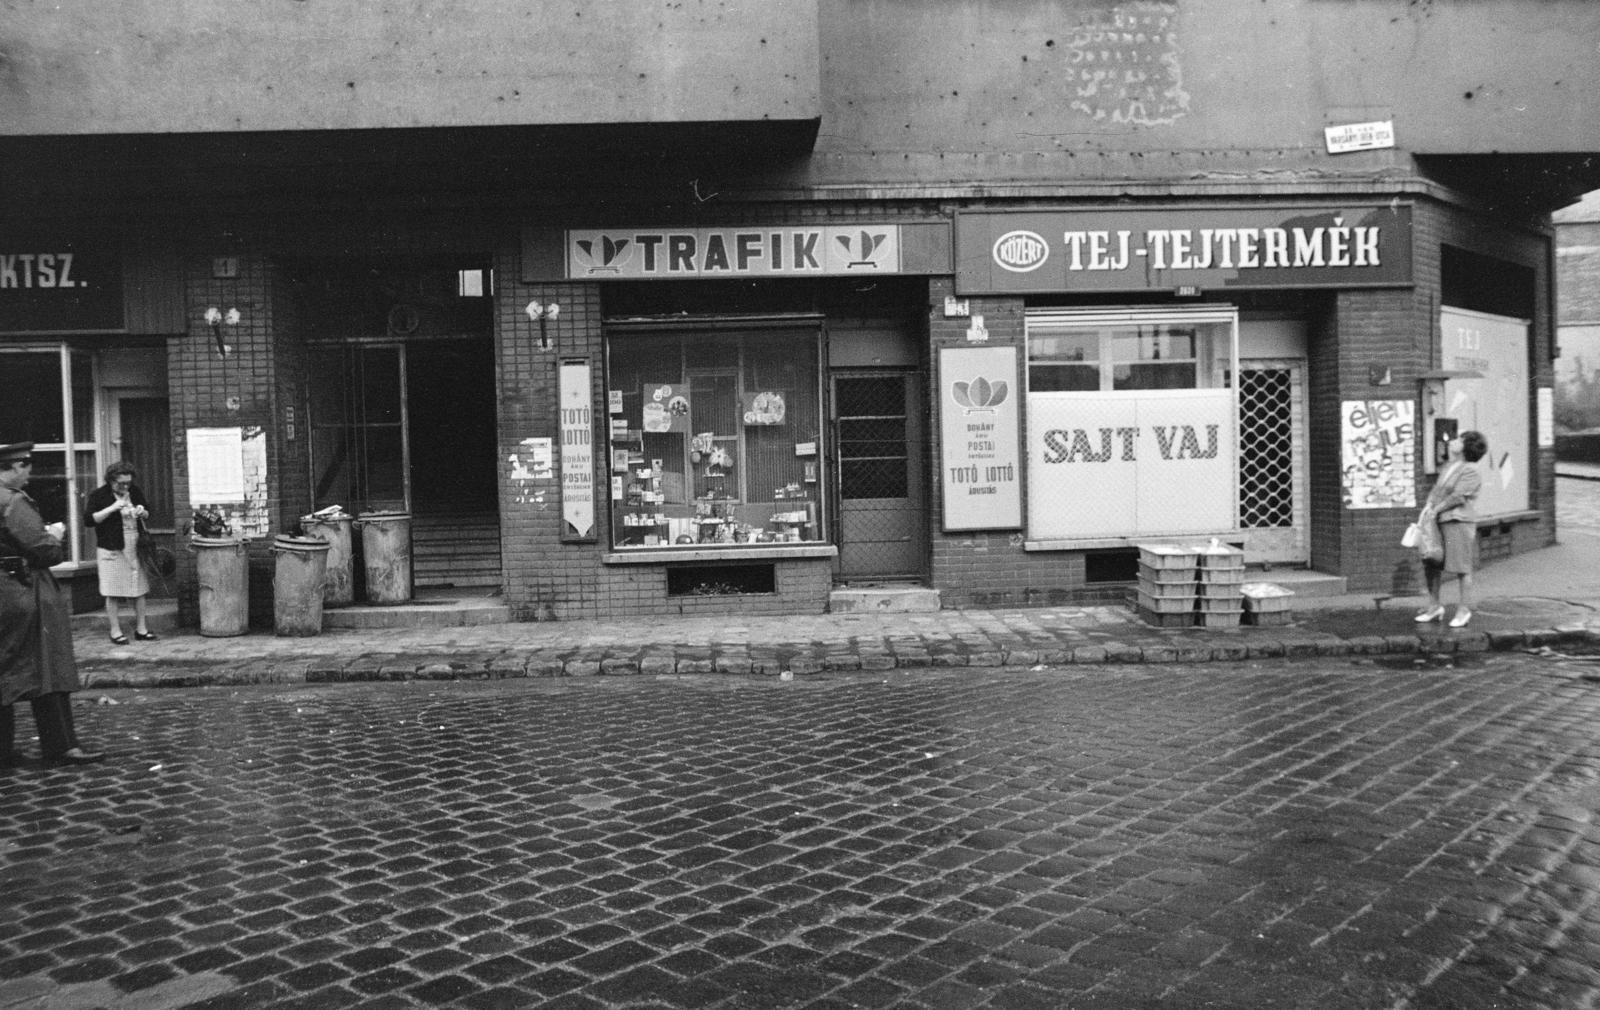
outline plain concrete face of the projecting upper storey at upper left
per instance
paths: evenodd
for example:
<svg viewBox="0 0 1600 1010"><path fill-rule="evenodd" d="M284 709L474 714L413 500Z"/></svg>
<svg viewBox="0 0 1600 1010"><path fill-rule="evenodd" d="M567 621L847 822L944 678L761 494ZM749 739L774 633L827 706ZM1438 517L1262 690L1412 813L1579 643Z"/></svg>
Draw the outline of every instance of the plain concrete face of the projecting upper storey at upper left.
<svg viewBox="0 0 1600 1010"><path fill-rule="evenodd" d="M816 114L816 0L16 0L0 18L0 134Z"/></svg>

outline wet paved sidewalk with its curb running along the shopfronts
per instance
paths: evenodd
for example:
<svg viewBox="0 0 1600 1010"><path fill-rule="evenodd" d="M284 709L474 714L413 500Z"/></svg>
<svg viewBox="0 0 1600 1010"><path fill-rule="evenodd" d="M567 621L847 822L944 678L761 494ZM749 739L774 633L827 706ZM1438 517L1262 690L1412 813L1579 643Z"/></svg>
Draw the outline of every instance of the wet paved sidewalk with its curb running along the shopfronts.
<svg viewBox="0 0 1600 1010"><path fill-rule="evenodd" d="M1267 576L1270 578L1270 576ZM1446 587L1446 602L1454 600ZM347 680L576 677L595 674L806 675L917 666L1238 663L1256 658L1485 651L1600 642L1600 538L1494 562L1477 576L1472 624L1416 624L1422 597L1294 600L1278 627L1160 629L1131 607L944 610L896 615L672 618L470 627L269 631L210 639L155 623L158 642L107 642L78 615L86 687L195 687ZM131 632L125 619L125 631Z"/></svg>

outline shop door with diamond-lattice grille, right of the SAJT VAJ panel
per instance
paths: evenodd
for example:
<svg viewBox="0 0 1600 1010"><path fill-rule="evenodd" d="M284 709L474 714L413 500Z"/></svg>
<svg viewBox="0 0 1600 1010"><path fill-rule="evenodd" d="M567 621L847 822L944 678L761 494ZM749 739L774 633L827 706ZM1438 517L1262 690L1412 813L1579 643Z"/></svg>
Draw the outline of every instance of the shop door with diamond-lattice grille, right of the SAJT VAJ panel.
<svg viewBox="0 0 1600 1010"><path fill-rule="evenodd" d="M1310 560L1304 368L1293 359L1238 365L1238 525L1250 563Z"/></svg>

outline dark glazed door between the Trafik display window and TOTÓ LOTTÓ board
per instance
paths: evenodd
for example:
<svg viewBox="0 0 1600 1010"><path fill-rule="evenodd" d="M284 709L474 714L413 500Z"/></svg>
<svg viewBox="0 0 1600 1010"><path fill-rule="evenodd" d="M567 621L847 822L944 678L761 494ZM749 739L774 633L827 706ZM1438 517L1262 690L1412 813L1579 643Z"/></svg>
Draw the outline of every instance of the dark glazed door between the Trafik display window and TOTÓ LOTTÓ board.
<svg viewBox="0 0 1600 1010"><path fill-rule="evenodd" d="M834 373L840 583L928 576L920 405L914 371Z"/></svg>

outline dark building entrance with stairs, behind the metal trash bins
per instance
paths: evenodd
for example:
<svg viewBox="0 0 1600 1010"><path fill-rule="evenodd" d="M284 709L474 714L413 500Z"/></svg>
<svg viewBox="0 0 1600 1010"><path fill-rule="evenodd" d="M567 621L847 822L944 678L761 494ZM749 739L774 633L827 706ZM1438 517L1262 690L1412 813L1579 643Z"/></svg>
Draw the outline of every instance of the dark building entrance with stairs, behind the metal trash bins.
<svg viewBox="0 0 1600 1010"><path fill-rule="evenodd" d="M314 347L309 386L315 507L410 512L418 587L499 586L493 344Z"/></svg>

